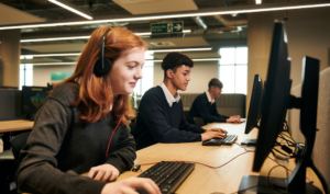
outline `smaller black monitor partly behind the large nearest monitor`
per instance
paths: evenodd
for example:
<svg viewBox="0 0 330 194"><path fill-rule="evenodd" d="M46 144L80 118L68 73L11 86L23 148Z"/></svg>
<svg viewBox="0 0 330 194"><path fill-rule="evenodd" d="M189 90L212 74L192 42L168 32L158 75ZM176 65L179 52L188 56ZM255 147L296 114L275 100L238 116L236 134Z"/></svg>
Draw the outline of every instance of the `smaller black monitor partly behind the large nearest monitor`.
<svg viewBox="0 0 330 194"><path fill-rule="evenodd" d="M254 127L257 127L257 122L261 112L261 102L263 95L263 81L258 75L254 76L245 134L249 134Z"/></svg>

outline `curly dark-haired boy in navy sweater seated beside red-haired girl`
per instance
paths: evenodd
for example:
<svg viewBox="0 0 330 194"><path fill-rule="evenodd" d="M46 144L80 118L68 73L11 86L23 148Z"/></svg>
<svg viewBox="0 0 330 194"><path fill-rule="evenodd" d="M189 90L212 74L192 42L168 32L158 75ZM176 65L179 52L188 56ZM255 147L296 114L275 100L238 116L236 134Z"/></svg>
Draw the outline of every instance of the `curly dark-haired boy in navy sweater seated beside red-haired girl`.
<svg viewBox="0 0 330 194"><path fill-rule="evenodd" d="M185 91L190 81L193 60L180 53L169 53L163 59L164 82L142 96L134 138L136 149L157 142L189 142L224 138L224 129L205 130L188 124L177 90Z"/></svg>

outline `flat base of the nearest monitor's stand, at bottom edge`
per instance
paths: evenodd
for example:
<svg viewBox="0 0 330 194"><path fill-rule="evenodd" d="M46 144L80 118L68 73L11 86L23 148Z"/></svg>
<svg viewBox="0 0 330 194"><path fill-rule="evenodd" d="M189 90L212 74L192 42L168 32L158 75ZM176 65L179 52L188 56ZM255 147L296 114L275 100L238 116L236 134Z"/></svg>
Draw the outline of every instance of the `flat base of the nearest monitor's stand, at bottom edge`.
<svg viewBox="0 0 330 194"><path fill-rule="evenodd" d="M239 189L239 194L252 194L252 193L284 193L284 194L301 194L300 190L289 189L286 191L286 179L283 178L267 178L258 175L244 175ZM270 185L270 184L271 185ZM273 186L272 186L273 185ZM312 184L306 183L306 194L321 194L321 190Z"/></svg>

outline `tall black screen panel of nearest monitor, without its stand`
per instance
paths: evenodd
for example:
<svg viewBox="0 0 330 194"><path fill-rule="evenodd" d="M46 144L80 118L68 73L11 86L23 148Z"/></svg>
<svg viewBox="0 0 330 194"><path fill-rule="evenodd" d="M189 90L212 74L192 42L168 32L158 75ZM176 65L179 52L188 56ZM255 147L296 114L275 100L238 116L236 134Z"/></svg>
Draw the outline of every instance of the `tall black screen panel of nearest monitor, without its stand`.
<svg viewBox="0 0 330 194"><path fill-rule="evenodd" d="M289 102L289 75L286 34L283 23L275 23L253 171L260 171L283 126L283 114Z"/></svg>

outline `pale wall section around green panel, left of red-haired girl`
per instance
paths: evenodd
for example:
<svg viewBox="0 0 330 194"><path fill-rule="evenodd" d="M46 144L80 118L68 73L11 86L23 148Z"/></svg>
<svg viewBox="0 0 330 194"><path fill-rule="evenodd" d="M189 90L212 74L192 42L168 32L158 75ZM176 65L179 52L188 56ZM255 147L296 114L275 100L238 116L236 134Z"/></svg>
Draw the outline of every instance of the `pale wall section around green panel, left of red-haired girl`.
<svg viewBox="0 0 330 194"><path fill-rule="evenodd" d="M47 85L52 71L75 71L75 68L76 66L33 66L33 85Z"/></svg>

